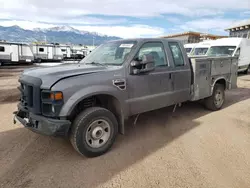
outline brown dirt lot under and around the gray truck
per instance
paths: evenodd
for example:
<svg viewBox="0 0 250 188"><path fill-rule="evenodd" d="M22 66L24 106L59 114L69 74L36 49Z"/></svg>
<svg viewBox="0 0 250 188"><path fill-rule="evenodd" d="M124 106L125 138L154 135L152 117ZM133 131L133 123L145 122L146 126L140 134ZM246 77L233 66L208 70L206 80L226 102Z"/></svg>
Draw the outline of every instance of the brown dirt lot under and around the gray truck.
<svg viewBox="0 0 250 188"><path fill-rule="evenodd" d="M146 113L87 159L65 139L13 125L21 70L0 69L0 187L250 187L250 75L221 111L189 103Z"/></svg>

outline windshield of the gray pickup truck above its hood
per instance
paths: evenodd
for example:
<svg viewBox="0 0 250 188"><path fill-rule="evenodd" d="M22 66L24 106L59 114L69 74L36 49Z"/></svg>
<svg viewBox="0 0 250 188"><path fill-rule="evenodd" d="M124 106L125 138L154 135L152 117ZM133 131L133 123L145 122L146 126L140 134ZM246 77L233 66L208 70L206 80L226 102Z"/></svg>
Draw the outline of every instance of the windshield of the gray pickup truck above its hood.
<svg viewBox="0 0 250 188"><path fill-rule="evenodd" d="M136 41L114 41L100 45L80 63L96 65L122 65Z"/></svg>

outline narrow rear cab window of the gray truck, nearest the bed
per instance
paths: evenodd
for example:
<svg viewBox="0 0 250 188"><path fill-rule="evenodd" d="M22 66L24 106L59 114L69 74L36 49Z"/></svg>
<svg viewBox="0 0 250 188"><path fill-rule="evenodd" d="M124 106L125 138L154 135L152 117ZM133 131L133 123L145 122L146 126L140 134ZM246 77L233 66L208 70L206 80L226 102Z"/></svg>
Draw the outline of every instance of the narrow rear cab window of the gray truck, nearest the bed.
<svg viewBox="0 0 250 188"><path fill-rule="evenodd" d="M168 45L171 50L175 66L184 66L184 58L179 44L177 42L169 42Z"/></svg>

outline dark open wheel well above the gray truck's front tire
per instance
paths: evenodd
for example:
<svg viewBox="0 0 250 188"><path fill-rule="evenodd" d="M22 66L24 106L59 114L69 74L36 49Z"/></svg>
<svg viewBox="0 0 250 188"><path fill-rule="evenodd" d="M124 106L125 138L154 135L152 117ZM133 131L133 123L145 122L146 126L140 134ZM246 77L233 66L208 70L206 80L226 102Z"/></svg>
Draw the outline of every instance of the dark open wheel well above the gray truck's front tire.
<svg viewBox="0 0 250 188"><path fill-rule="evenodd" d="M111 111L118 121L119 132L124 134L124 118L122 115L121 104L118 99L112 95L100 94L83 99L75 106L68 119L73 121L84 109L94 106L106 108Z"/></svg>

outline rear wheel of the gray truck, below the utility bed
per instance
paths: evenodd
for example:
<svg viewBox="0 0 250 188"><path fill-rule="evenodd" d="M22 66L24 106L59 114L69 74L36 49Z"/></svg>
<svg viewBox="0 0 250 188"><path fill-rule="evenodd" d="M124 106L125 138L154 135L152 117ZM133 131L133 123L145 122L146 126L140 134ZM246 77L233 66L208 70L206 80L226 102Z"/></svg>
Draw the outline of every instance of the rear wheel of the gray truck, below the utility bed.
<svg viewBox="0 0 250 188"><path fill-rule="evenodd" d="M225 101L225 87L215 84L212 96L205 99L205 107L212 111L220 110Z"/></svg>

